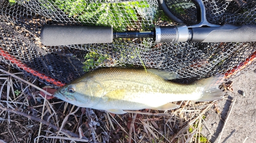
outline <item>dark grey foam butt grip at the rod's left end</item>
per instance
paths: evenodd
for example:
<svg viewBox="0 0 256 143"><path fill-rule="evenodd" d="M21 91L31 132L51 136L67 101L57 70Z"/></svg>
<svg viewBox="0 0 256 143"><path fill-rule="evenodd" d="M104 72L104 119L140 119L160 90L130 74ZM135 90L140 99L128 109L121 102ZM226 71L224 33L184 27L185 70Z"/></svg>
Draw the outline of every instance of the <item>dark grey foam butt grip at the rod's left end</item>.
<svg viewBox="0 0 256 143"><path fill-rule="evenodd" d="M46 46L111 43L112 27L46 25L41 29L41 42Z"/></svg>

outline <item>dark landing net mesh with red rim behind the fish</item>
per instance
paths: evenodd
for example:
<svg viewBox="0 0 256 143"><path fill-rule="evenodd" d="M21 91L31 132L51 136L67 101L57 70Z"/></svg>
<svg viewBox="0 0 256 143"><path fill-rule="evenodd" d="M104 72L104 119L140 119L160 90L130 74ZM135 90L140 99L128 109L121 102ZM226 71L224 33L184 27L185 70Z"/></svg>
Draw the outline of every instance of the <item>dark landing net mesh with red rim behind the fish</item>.
<svg viewBox="0 0 256 143"><path fill-rule="evenodd" d="M255 42L160 43L151 38L114 39L112 43L45 46L44 25L112 26L114 31L151 31L154 25L175 25L157 1L30 0L0 1L1 60L47 84L68 83L99 67L131 66L177 72L178 82L225 74L233 78L255 66ZM191 1L165 1L186 24L197 22ZM255 1L204 1L213 24L256 24ZM8 58L9 57L9 58ZM245 62L247 60L247 63ZM240 68L237 72L235 69ZM48 78L49 80L47 80ZM55 84L56 85L56 84Z"/></svg>

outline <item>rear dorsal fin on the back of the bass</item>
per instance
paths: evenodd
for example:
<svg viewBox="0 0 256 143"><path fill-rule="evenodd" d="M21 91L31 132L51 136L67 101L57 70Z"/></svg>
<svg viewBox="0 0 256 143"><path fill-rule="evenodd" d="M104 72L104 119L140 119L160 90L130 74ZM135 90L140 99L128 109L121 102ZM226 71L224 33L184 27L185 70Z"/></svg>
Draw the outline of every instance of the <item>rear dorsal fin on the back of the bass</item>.
<svg viewBox="0 0 256 143"><path fill-rule="evenodd" d="M165 80L172 80L178 78L178 74L175 72L169 72L165 70L160 70L160 69L146 69L148 72L152 72L160 77L162 77Z"/></svg>

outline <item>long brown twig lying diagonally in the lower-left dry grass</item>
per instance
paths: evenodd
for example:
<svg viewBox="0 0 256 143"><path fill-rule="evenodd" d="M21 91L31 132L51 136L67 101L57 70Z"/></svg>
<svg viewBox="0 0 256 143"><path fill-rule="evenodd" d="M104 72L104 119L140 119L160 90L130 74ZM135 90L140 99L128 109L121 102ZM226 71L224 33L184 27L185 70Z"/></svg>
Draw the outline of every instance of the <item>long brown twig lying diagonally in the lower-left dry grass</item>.
<svg viewBox="0 0 256 143"><path fill-rule="evenodd" d="M49 123L49 122L47 122L47 121L45 121L45 120L41 120L40 118L30 116L30 115L28 115L28 114L26 114L26 113L24 113L24 112L20 112L20 111L14 110L14 109L5 108L5 107L2 107L2 106L0 106L0 109L1 109L1 110L4 110L4 111L16 113L17 115L24 116L24 117L26 117L26 118L28 118L28 119L30 119L30 120L35 120L35 121L37 121L37 122L40 122L40 123L42 123L42 124L45 124L45 125L49 126L50 128L53 128L53 129L55 129L55 130L58 130L58 131L59 131L59 129L60 129L60 127L57 127L57 126L55 126L55 125L53 125L53 124L51 124L51 123ZM72 136L72 137L77 137L77 138L79 138L79 135L78 135L78 134L73 133L73 132L71 132L71 131L68 131L68 130L66 130L66 129L62 129L61 132L66 133L66 134L68 134L68 135L70 135L70 136ZM89 139L86 138L86 137L83 137L83 139L89 140Z"/></svg>

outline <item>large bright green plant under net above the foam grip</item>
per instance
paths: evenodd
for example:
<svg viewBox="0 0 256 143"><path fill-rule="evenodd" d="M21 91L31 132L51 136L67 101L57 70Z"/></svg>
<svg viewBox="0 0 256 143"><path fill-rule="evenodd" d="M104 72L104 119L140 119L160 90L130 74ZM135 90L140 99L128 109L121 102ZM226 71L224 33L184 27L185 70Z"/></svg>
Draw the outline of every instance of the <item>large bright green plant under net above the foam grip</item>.
<svg viewBox="0 0 256 143"><path fill-rule="evenodd" d="M127 26L143 27L145 17L154 19L147 1L111 2L110 0L90 2L88 0L48 0L53 6L84 24L113 26L115 31L125 31ZM48 5L49 6L49 5ZM52 9L53 8L49 8ZM150 10L150 11L149 11ZM147 14L147 15L145 15Z"/></svg>

